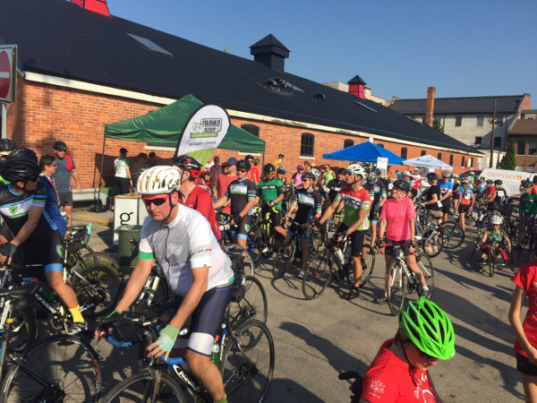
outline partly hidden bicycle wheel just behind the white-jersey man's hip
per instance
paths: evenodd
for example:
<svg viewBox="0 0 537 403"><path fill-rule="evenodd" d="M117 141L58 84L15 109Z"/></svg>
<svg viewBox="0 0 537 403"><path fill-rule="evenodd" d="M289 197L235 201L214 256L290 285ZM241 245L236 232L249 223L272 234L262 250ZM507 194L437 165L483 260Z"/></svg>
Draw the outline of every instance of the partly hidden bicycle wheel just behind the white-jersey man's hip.
<svg viewBox="0 0 537 403"><path fill-rule="evenodd" d="M246 281L251 282L250 288L246 291L239 302L231 302L227 312L227 326L234 329L237 324L249 319L257 319L267 323L268 303L265 288L259 279L246 276Z"/></svg>

